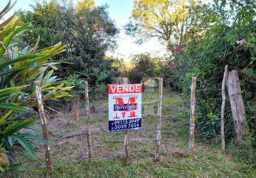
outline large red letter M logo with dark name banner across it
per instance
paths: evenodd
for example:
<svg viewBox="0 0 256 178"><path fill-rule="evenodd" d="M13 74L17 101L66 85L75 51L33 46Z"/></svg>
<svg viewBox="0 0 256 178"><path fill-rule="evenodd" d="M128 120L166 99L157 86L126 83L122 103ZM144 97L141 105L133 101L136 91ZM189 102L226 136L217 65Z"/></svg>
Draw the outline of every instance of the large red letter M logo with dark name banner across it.
<svg viewBox="0 0 256 178"><path fill-rule="evenodd" d="M130 97L128 100L128 103L124 103L124 98L114 98L116 100L116 104L114 105L114 111L123 111L122 118L126 116L126 113L129 112L128 117L137 117L135 110L137 110L137 103L136 103L136 97ZM118 112L116 112L116 115L114 119L119 119Z"/></svg>

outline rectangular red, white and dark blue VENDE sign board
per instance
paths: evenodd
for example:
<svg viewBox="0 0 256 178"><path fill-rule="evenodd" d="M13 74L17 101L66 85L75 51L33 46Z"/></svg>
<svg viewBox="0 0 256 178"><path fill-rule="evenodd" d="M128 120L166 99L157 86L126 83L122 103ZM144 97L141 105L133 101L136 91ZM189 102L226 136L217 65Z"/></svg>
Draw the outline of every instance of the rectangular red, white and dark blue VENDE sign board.
<svg viewBox="0 0 256 178"><path fill-rule="evenodd" d="M142 127L142 84L108 85L109 132Z"/></svg>

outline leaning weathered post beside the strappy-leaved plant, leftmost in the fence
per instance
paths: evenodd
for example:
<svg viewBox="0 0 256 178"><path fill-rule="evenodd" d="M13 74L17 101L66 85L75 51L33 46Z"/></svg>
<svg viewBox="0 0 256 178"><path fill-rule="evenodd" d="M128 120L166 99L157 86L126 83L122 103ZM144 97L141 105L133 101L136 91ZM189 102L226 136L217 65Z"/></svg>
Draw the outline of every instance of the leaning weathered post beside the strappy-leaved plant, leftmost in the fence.
<svg viewBox="0 0 256 178"><path fill-rule="evenodd" d="M44 138L44 140L46 140L48 142L49 141L49 133L47 130L47 125L46 125L46 115L44 112L44 105L43 105L43 101L41 99L40 81L39 80L34 81L34 85L36 88L37 108L39 111L41 127L43 130L43 138ZM48 144L44 144L44 152L45 152L45 158L46 158L46 167L47 167L48 172L51 173L53 171L53 167L52 167L52 163L51 163L49 142L48 142Z"/></svg>

